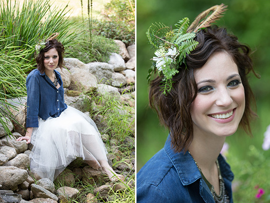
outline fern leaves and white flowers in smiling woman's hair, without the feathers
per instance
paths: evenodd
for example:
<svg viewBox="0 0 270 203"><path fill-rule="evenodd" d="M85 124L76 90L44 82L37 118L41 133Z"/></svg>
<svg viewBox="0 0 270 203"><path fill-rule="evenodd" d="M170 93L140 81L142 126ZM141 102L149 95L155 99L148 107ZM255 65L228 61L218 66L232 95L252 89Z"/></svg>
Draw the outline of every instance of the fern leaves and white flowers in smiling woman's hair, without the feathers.
<svg viewBox="0 0 270 203"><path fill-rule="evenodd" d="M190 54L196 46L198 41L193 40L196 36L195 33L187 33L189 19L183 18L175 24L177 29L170 30L169 26L163 23L152 24L146 36L150 44L158 49L153 57L154 67L157 68L159 76L162 77L161 90L163 94L167 94L171 90L172 77L178 73L182 63L185 63L186 54ZM149 69L147 80L151 78L154 73L153 66Z"/></svg>

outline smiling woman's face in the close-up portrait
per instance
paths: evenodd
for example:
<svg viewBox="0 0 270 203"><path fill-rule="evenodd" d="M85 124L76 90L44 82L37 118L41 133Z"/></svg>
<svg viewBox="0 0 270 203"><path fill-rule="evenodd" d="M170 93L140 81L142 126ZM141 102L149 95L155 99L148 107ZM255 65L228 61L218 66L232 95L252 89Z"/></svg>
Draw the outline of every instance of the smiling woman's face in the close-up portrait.
<svg viewBox="0 0 270 203"><path fill-rule="evenodd" d="M236 63L227 52L217 52L202 68L194 70L194 77L198 88L191 112L194 134L234 134L245 109Z"/></svg>

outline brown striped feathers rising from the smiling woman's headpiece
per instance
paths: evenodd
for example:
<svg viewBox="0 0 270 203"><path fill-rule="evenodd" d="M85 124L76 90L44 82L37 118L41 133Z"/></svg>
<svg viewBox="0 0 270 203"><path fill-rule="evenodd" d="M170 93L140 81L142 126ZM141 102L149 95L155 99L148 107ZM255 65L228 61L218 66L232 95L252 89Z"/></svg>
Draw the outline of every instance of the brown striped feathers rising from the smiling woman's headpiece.
<svg viewBox="0 0 270 203"><path fill-rule="evenodd" d="M203 11L189 26L189 28L187 29L187 33L190 33L192 31L197 33L200 29L209 27L212 23L214 23L216 20L219 20L219 18L222 17L222 14L225 13L227 7L228 7L227 5L224 5L222 3L220 5L214 5L211 8L208 8L207 10ZM211 11L212 13L209 15ZM200 23L200 21L205 17L206 19Z"/></svg>

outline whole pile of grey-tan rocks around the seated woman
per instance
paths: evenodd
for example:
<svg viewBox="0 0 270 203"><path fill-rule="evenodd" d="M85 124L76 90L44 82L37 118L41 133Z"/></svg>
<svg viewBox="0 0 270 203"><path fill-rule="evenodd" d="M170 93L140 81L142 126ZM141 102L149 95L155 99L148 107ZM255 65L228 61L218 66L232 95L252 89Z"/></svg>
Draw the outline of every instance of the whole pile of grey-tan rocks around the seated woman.
<svg viewBox="0 0 270 203"><path fill-rule="evenodd" d="M95 92L99 95L110 95L123 105L135 107L135 45L127 49L123 42L116 41L121 48L120 55L112 53L108 63L94 62L84 64L78 59L66 58L67 69L57 69L61 73L65 87L65 102L89 115L85 100L89 96L85 93ZM64 183L64 187L55 190L55 185L49 179L40 179L29 170L29 155L33 148L26 141L15 141L17 137L24 136L26 124L27 98L16 98L11 102L17 110L11 109L11 113L17 122L6 120L6 125L12 131L12 136L7 136L0 125L0 202L1 203L57 203L67 202L78 197L80 192L72 188L76 182L97 185L92 193L87 195L87 202L95 203L99 199L109 200L111 191L124 190L127 185L122 182L109 183L106 176L100 170L94 170L80 159L75 160L66 168L55 181ZM95 105L93 106L95 108ZM121 114L130 114L135 119L135 112L121 110ZM102 140L110 142L110 154L107 155L109 164L117 159L115 153L123 153L119 149L115 139L111 139L102 131L106 129L103 118L97 115L92 118L101 131ZM134 122L133 122L134 123ZM132 135L135 135L135 126ZM5 136L6 135L6 136ZM127 136L124 143L134 148L134 137ZM78 164L80 162L80 164ZM125 176L126 180L135 171L135 152L132 158L118 164L114 169ZM125 181L124 181L125 182ZM134 183L129 183L134 187ZM70 186L70 187L69 187Z"/></svg>

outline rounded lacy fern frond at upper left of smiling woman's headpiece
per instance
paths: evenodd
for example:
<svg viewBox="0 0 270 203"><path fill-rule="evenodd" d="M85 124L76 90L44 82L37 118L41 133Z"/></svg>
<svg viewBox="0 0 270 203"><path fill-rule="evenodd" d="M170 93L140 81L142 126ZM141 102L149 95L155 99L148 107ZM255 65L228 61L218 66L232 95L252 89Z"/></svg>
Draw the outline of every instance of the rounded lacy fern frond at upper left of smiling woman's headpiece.
<svg viewBox="0 0 270 203"><path fill-rule="evenodd" d="M160 45L165 43L164 37L170 31L170 28L163 23L152 24L147 32L146 36L149 42L157 49L159 49Z"/></svg>

